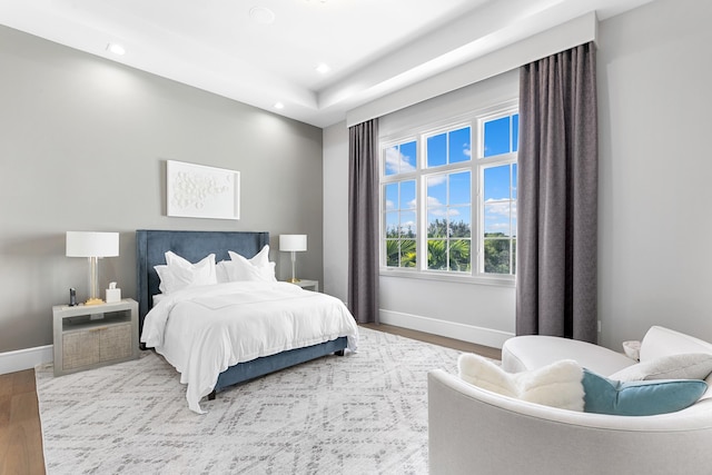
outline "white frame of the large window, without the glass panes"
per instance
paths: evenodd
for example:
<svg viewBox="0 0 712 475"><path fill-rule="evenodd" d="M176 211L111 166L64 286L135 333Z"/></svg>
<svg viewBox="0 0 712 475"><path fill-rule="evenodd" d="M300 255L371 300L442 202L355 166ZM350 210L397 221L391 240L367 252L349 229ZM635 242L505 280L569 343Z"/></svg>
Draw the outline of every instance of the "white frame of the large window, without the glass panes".
<svg viewBox="0 0 712 475"><path fill-rule="evenodd" d="M466 115L454 117L451 120L442 120L416 130L404 130L384 137L379 141L379 263L382 276L408 277L433 280L461 281L485 285L513 286L515 276L504 274L484 273L484 170L490 167L506 164L516 164L518 151L501 154L484 158L484 123L501 117L518 113L518 101L516 99L500 103L486 109L479 109ZM463 127L471 129L472 157L468 161L446 164L434 168L426 167L427 138L438 133L453 131ZM414 171L405 174L385 175L385 152L388 148L416 141L417 162ZM427 268L427 188L428 176L441 174L453 174L458 171L471 172L471 271L459 273L452 270L433 270ZM385 185L389 182L416 180L416 254L417 263L415 267L388 267L386 243L386 220L385 220ZM515 200L516 202L516 200ZM512 238L511 238L512 239ZM516 239L516 231L514 231Z"/></svg>

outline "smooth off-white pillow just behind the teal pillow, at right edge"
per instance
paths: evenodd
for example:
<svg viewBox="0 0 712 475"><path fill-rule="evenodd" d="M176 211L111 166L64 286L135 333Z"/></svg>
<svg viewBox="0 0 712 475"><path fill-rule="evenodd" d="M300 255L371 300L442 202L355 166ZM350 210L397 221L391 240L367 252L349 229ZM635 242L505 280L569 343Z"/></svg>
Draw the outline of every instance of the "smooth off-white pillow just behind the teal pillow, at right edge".
<svg viewBox="0 0 712 475"><path fill-rule="evenodd" d="M611 379L631 382L650 379L704 379L712 373L712 355L684 353L662 356L623 368Z"/></svg>

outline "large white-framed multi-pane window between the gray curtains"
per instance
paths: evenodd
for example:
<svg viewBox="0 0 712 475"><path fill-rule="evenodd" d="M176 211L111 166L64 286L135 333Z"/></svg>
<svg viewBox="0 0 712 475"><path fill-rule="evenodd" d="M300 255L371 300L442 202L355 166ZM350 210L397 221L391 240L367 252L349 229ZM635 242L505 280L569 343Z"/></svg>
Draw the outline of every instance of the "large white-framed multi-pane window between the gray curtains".
<svg viewBox="0 0 712 475"><path fill-rule="evenodd" d="M514 275L517 141L510 107L382 142L382 265Z"/></svg>

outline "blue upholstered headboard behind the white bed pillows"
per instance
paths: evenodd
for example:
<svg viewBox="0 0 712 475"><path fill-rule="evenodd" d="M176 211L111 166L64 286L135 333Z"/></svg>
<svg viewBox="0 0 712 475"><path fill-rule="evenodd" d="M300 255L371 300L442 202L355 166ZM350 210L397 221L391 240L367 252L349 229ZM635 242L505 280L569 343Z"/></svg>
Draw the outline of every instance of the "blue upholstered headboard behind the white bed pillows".
<svg viewBox="0 0 712 475"><path fill-rule="evenodd" d="M269 244L269 232L263 231L136 231L137 296L139 313L139 335L144 329L144 317L152 307L154 295L160 293L158 274L154 266L166 264L165 253L172 250L191 263L197 263L209 254L216 261L229 259L228 250L247 258L255 256Z"/></svg>

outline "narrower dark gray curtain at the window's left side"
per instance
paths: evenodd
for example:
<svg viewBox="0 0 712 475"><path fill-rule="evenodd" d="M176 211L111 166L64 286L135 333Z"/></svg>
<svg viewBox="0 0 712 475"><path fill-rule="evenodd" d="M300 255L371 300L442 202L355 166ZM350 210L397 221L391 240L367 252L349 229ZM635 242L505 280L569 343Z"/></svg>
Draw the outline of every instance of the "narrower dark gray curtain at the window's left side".
<svg viewBox="0 0 712 475"><path fill-rule="evenodd" d="M348 129L348 305L378 318L378 119Z"/></svg>

